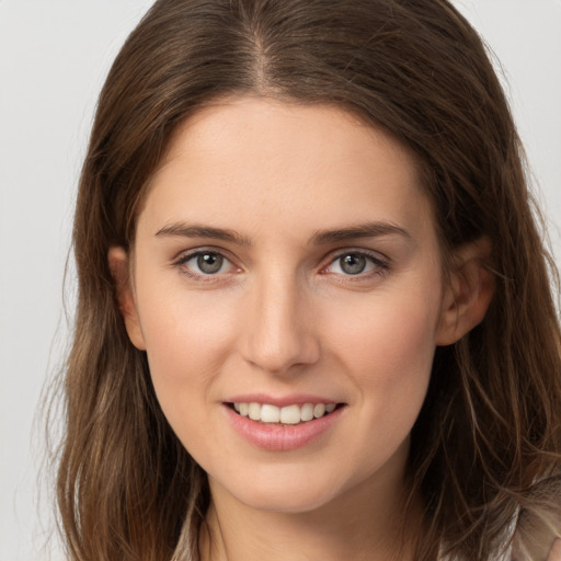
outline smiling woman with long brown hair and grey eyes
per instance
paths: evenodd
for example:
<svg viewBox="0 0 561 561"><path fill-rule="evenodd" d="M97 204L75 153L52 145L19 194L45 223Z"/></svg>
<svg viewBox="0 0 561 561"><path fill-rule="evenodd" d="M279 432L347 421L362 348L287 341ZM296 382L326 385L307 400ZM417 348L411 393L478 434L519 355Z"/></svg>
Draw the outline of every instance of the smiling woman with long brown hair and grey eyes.
<svg viewBox="0 0 561 561"><path fill-rule="evenodd" d="M158 1L80 184L70 557L490 560L554 519L520 152L444 0Z"/></svg>

